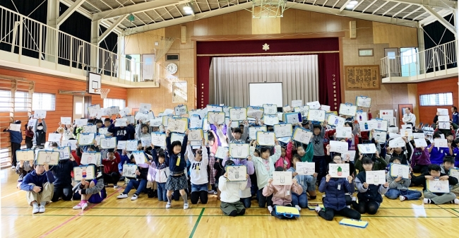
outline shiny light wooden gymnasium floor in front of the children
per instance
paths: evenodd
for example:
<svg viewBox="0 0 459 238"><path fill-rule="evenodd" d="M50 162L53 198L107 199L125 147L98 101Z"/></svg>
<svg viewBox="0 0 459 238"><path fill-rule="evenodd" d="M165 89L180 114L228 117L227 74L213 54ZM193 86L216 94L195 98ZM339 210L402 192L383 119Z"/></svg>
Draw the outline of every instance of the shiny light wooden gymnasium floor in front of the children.
<svg viewBox="0 0 459 238"><path fill-rule="evenodd" d="M11 169L1 169L1 237L457 237L458 205L423 205L422 201L389 200L376 215L362 215L368 227L339 225L335 217L327 222L313 210L303 209L296 220L279 220L258 208L252 201L246 215L230 218L222 215L220 201L211 195L206 205L172 202L171 209L157 198L141 195L117 199L120 193L107 187L107 199L87 210L72 210L78 202L59 201L46 212L32 215L25 192L16 189L18 176ZM130 195L133 194L131 191ZM318 197L321 197L319 195ZM191 204L191 203L190 203Z"/></svg>

